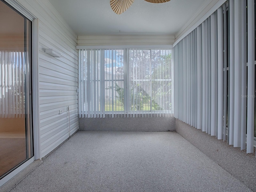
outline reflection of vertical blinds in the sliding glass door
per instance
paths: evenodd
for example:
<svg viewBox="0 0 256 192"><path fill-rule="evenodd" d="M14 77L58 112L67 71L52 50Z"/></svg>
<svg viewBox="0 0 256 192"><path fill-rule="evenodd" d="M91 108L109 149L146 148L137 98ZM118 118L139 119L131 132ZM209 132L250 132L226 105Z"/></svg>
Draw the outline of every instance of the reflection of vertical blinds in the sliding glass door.
<svg viewBox="0 0 256 192"><path fill-rule="evenodd" d="M0 117L25 114L26 54L0 50Z"/></svg>

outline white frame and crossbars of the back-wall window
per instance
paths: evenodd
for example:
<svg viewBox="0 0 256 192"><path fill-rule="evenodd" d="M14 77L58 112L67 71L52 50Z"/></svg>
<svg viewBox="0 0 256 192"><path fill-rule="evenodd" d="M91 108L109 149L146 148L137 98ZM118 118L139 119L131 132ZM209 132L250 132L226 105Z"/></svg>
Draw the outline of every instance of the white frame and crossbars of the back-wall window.
<svg viewBox="0 0 256 192"><path fill-rule="evenodd" d="M172 54L172 48L138 48L139 50L150 50L150 52L151 52L151 50L168 50L169 52L170 52L170 54ZM152 103L152 81L161 81L161 82L166 82L166 81L170 81L170 82L172 82L172 84L171 84L171 93L170 93L170 98L171 98L171 101L170 101L170 103L172 104L172 109L171 110L152 110L152 104L150 104L150 110L136 110L136 113L134 113L132 110L131 110L131 101L130 101L130 93L129 93L129 89L130 89L130 86L129 86L129 80L130 80L130 78L129 78L129 76L130 76L130 63L128 62L128 58L129 58L129 50L131 50L131 48L102 48L102 49L99 49L99 48L96 48L96 49L90 49L90 48L86 48L86 49L80 49L79 50L79 89L78 89L78 92L79 92L79 90L83 90L83 89L85 89L85 87L84 88L82 88L82 86L83 86L83 84L81 84L81 82L82 82L82 79L81 79L81 75L82 75L82 72L81 72L81 65L82 65L82 61L81 61L81 55L82 55L82 52L87 52L88 50L100 50L100 51L102 51L102 53L101 53L101 55L102 55L102 58L101 58L101 60L103 61L103 60L105 60L106 58L105 58L105 51L106 50L123 50L123 53L124 53L124 55L123 55L123 58L124 58L124 60L123 60L123 62L124 62L124 65L123 65L123 67L124 67L124 74L123 74L123 79L108 79L108 78L106 78L105 77L105 73L107 72L107 71L105 71L105 70L103 70L102 71L102 73L104 73L104 81L102 81L102 82L100 82L100 80L96 80L97 82L99 82L99 84L101 84L101 86L104 86L104 89L106 90L106 87L105 87L105 84L106 84L106 82L110 82L110 84L112 83L112 84L114 84L114 83L116 83L116 82L123 82L124 83L124 110L121 110L121 111L118 111L118 110L106 110L106 107L105 107L105 102L104 102L104 104L102 104L103 105L103 108L99 108L99 111L97 111L96 113L97 114L103 114L102 116L97 116L97 117L106 117L106 115L111 115L112 114L112 116L119 116L120 114L124 114L124 115L127 115L127 116L129 116L129 114L130 114L130 116L132 116L132 114L136 114L136 116L139 114L173 114L173 78L172 78L172 76L173 76L173 64L172 64L172 58L170 59L170 79L153 79L152 80L152 78L150 78L150 80L148 80L148 81L150 81L150 86L151 86L151 90L150 90L150 92L151 92L151 94L150 94L150 100L151 100L151 102L150 103ZM86 53L85 53L86 54ZM151 60L151 54L150 54L150 60ZM85 66L84 66L84 68L86 68L86 64L85 64ZM86 81L86 80L84 80L84 81ZM141 81L145 81L145 79L142 79ZM103 88L101 89L101 90L103 90ZM85 91L85 90L84 90ZM113 90L112 90L112 94L113 94ZM102 92L103 93L103 92ZM101 94L102 94L101 93ZM81 98L82 98L82 96L81 96L81 94L82 93L79 93L79 102L82 102L82 100L81 100ZM116 94L114 94L114 95L116 95ZM104 97L104 98L106 98L106 92L104 92L104 95L102 96L102 97ZM104 99L105 100L105 99ZM114 101L115 102L115 101ZM82 108L82 104L79 104L79 115L80 115L80 117L81 116L83 116L84 117L84 115L85 115L85 117L88 117L88 118L90 118L90 116L88 116L88 114L85 112L86 110L85 110L85 108L86 108L86 100L84 100L84 108ZM111 105L108 105L108 106L110 106L110 109L111 109ZM113 106L113 101L112 101L112 106ZM115 106L115 105L114 105ZM84 109L84 110L83 110ZM102 111L101 111L102 110ZM91 112L91 113L93 113L93 112ZM91 116L92 117L92 116ZM96 117L96 116L94 116L94 117Z"/></svg>

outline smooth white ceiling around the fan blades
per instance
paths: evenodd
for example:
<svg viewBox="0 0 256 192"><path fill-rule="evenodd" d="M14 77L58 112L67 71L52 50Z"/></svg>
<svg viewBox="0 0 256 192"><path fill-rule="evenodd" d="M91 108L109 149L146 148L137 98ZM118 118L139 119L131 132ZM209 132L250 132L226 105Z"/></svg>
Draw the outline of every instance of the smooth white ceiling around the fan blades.
<svg viewBox="0 0 256 192"><path fill-rule="evenodd" d="M175 35L207 0L134 0L118 15L110 0L49 0L77 35Z"/></svg>

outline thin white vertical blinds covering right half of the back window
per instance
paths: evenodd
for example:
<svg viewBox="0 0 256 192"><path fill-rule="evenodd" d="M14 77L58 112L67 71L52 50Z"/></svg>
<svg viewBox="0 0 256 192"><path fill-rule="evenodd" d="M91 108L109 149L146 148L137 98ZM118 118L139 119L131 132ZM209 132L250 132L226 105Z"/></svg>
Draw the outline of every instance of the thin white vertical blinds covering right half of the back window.
<svg viewBox="0 0 256 192"><path fill-rule="evenodd" d="M170 113L171 50L129 49L129 110L136 116ZM148 115L149 116L149 115Z"/></svg>

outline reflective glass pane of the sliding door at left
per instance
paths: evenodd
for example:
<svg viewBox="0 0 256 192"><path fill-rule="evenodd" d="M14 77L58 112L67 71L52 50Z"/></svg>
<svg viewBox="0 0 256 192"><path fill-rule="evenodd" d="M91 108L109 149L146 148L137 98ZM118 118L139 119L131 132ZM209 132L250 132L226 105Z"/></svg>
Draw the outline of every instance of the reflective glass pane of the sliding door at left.
<svg viewBox="0 0 256 192"><path fill-rule="evenodd" d="M31 21L0 0L0 179L33 154Z"/></svg>

